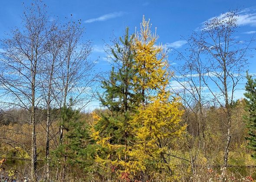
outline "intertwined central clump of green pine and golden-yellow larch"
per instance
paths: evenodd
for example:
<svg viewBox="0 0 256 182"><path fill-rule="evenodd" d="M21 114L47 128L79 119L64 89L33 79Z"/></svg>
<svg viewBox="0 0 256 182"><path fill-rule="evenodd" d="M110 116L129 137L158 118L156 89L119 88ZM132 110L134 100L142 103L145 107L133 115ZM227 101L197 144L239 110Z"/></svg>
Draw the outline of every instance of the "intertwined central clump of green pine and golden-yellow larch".
<svg viewBox="0 0 256 182"><path fill-rule="evenodd" d="M158 36L150 29L143 17L134 40L127 29L110 49L115 67L102 81L105 94L100 97L108 110L95 114L92 128L99 146L96 162L122 179L162 169L171 174L167 153L185 129L180 125L181 104L166 89L166 56L162 46L155 46Z"/></svg>

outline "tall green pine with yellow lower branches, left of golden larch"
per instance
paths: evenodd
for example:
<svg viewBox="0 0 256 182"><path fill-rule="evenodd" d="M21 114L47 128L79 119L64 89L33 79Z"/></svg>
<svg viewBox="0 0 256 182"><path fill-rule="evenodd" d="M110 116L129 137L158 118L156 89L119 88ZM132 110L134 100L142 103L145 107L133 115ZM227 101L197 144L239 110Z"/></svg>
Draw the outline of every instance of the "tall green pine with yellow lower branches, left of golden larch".
<svg viewBox="0 0 256 182"><path fill-rule="evenodd" d="M96 161L105 165L118 166L121 161L128 161L127 153L132 140L129 120L136 105L132 82L135 75L131 49L133 38L127 28L123 38L114 39L113 45L107 46L109 57L113 58L113 67L109 78L102 81L105 93L99 95L102 106L107 110L99 116L95 114L96 121L92 128L92 138L99 145Z"/></svg>

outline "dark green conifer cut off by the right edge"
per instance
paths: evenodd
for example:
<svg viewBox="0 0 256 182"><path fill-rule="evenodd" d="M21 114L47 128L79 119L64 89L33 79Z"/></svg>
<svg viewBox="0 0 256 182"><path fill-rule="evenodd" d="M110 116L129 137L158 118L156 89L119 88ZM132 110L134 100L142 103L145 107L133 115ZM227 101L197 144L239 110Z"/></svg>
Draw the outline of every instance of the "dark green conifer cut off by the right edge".
<svg viewBox="0 0 256 182"><path fill-rule="evenodd" d="M245 116L246 127L248 128L248 148L253 150L252 158L256 159L256 79L246 73L247 83L245 86L246 93L246 111L248 115Z"/></svg>

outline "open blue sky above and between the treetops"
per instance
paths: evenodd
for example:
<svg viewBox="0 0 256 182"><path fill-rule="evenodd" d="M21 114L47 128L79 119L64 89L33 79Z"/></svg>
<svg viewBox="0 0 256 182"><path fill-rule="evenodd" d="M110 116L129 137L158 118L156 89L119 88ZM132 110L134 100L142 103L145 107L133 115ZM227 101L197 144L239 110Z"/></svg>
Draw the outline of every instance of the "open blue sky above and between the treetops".
<svg viewBox="0 0 256 182"><path fill-rule="evenodd" d="M10 28L20 26L23 2L28 5L31 0L0 0L0 39ZM44 3L53 18L58 16L64 21L72 14L74 20L82 19L86 28L84 37L91 39L94 46L91 58L100 56L97 68L102 71L110 68L102 49L104 41L108 42L113 34L123 35L126 26L133 33L143 15L150 18L152 27L157 27L158 41L177 49L184 45L181 36L188 37L202 22L228 10L247 10L238 21L236 36L249 39L256 33L256 0L45 0ZM250 59L249 64L249 72L255 73L254 60Z"/></svg>

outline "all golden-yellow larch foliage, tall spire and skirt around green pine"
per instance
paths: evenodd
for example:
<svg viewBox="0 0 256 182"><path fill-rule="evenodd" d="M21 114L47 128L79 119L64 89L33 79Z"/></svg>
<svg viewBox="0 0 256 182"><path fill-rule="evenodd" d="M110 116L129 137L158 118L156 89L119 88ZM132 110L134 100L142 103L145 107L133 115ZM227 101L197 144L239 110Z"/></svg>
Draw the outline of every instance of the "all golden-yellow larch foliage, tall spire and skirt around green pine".
<svg viewBox="0 0 256 182"><path fill-rule="evenodd" d="M183 111L179 99L170 100L171 94L166 91L169 76L166 71L167 61L162 46L156 46L158 36L151 33L149 21L143 17L141 31L135 36L132 49L134 50L134 70L137 71L134 81L135 94L141 94L143 100L133 119L128 120L129 128L133 135L129 145L115 143L111 135L104 133L104 122L98 127L102 133L95 130L95 125L104 118L93 113L94 123L91 137L104 148L104 157L96 156L96 162L103 168L113 168L120 176L129 174L132 177L139 172L150 173L151 169L167 169L170 172L171 163L166 155L170 151L171 143L181 137L186 126L181 126ZM151 93L154 91L154 94ZM145 103L144 101L148 102ZM118 116L115 118L119 118ZM107 121L108 124L110 121ZM121 122L121 121L120 121ZM116 123L118 125L118 123ZM109 135L109 136L108 136Z"/></svg>

